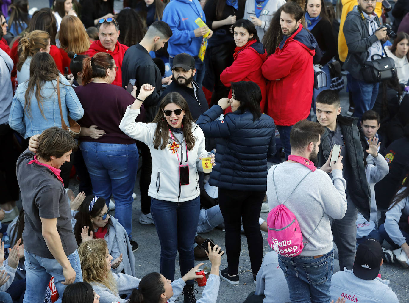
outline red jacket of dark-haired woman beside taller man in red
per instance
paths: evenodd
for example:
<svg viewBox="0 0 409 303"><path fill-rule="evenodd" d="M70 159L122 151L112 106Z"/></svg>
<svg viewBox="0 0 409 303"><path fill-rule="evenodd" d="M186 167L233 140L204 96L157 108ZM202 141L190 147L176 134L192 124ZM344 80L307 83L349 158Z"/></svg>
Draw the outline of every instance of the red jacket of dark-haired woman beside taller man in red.
<svg viewBox="0 0 409 303"><path fill-rule="evenodd" d="M267 51L263 45L252 40L247 42L244 47L236 47L233 54L233 64L226 67L220 74L220 81L226 87L231 86L230 82L253 81L261 89L261 112L264 112L265 106L265 78L261 74L261 66L267 58ZM231 98L231 89L229 92Z"/></svg>

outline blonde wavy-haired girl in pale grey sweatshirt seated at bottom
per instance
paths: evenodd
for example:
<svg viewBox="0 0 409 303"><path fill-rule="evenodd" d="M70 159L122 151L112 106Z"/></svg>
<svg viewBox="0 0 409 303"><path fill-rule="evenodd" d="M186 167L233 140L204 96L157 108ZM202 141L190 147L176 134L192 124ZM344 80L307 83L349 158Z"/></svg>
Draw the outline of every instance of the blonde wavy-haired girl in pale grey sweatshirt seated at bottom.
<svg viewBox="0 0 409 303"><path fill-rule="evenodd" d="M93 239L81 243L78 247L84 282L91 284L95 293L99 294L100 303L125 303L120 295L130 294L139 286L141 279L128 274L111 272L112 256L104 239Z"/></svg>

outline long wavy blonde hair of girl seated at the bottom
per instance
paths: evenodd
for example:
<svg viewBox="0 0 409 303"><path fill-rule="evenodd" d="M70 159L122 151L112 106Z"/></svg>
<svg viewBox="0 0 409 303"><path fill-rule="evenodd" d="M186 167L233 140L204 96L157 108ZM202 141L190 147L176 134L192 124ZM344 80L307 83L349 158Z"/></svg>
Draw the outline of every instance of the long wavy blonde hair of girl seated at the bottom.
<svg viewBox="0 0 409 303"><path fill-rule="evenodd" d="M92 239L79 245L82 278L84 282L103 284L115 296L119 296L117 283L106 266L107 250L105 239Z"/></svg>

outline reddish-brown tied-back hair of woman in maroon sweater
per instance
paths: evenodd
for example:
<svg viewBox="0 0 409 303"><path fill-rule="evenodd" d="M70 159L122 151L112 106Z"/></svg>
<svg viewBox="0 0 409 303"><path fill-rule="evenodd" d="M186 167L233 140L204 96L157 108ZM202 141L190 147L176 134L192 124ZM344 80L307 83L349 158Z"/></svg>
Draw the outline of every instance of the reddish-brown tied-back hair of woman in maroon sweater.
<svg viewBox="0 0 409 303"><path fill-rule="evenodd" d="M87 85L92 78L105 78L106 70L114 66L114 58L109 53L96 53L92 58L85 58L82 63L82 85Z"/></svg>

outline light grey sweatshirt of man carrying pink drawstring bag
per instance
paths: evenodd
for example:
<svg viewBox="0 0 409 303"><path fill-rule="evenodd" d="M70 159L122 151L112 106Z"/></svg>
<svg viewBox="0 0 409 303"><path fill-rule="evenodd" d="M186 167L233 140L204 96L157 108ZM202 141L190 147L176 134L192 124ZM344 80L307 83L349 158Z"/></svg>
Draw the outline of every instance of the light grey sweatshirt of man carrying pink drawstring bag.
<svg viewBox="0 0 409 303"><path fill-rule="evenodd" d="M273 170L274 182L272 178ZM270 209L283 203L290 196L310 169L301 163L283 162L272 166L267 174L267 200ZM300 256L318 256L333 249L333 234L329 217L342 219L346 212L346 182L342 171L332 171L333 179L320 169L310 173L295 189L285 203L297 218L304 246ZM277 201L276 191L279 197ZM324 217L323 217L324 215ZM322 218L322 220L321 220ZM321 222L319 223L319 221ZM267 222L268 223L268 222ZM318 224L319 223L319 224ZM317 227L314 233L312 231Z"/></svg>

